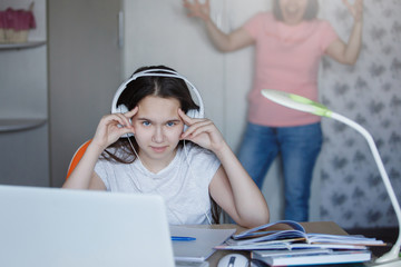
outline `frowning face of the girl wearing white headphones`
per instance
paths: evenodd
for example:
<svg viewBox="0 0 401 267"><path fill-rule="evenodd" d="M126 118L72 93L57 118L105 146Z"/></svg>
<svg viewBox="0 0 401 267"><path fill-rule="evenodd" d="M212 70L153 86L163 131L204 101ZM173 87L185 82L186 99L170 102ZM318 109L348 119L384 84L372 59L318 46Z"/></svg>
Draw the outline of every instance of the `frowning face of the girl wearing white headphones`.
<svg viewBox="0 0 401 267"><path fill-rule="evenodd" d="M179 108L177 99L155 96L144 98L138 105L133 118L135 138L139 158L150 171L166 167L175 157L184 129Z"/></svg>

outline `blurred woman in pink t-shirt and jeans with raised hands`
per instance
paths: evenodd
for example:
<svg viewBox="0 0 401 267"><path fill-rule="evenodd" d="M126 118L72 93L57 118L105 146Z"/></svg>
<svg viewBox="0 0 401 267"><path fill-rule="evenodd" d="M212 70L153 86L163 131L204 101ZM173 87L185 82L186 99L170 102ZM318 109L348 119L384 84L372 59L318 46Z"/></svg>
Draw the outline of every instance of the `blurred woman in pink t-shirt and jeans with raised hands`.
<svg viewBox="0 0 401 267"><path fill-rule="evenodd" d="M229 33L212 21L209 0L184 0L188 16L205 22L211 41L221 51L256 48L248 122L238 158L262 188L271 164L281 155L285 219L309 219L312 174L322 146L320 117L273 103L261 96L261 90L282 90L317 101L322 56L344 65L355 63L362 43L363 0L343 3L354 19L348 42L327 21L316 18L317 0L273 0L272 12L260 12Z"/></svg>

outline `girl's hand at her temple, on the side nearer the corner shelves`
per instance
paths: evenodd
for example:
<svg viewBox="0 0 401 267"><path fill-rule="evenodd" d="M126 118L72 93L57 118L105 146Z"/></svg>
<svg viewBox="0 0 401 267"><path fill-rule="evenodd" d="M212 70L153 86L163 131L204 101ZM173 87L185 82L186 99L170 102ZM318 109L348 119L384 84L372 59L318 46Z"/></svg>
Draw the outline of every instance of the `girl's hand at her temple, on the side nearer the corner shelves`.
<svg viewBox="0 0 401 267"><path fill-rule="evenodd" d="M126 113L111 113L104 116L96 129L92 142L104 150L117 141L121 136L126 134L135 134L130 119L137 113L137 111L138 107Z"/></svg>

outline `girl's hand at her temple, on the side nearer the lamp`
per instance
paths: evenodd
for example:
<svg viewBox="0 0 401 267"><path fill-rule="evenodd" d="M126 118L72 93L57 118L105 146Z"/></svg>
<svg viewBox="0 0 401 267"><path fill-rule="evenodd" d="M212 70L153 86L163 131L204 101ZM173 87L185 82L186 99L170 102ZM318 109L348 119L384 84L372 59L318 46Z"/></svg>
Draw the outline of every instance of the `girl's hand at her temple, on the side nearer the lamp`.
<svg viewBox="0 0 401 267"><path fill-rule="evenodd" d="M209 119L194 119L178 109L178 115L188 129L183 132L180 139L189 140L198 146L218 152L224 146L225 140L217 127Z"/></svg>

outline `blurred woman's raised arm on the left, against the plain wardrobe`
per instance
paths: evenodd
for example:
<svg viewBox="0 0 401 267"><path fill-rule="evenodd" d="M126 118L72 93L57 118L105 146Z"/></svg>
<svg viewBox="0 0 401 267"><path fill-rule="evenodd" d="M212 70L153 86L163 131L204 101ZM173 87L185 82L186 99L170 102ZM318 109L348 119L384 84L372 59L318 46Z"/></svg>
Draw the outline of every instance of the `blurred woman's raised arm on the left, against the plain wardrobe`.
<svg viewBox="0 0 401 267"><path fill-rule="evenodd" d="M188 17L197 17L205 22L207 34L218 50L229 52L254 43L254 39L243 28L231 33L221 31L211 19L209 0L203 4L198 0L184 0L184 7L188 10Z"/></svg>

